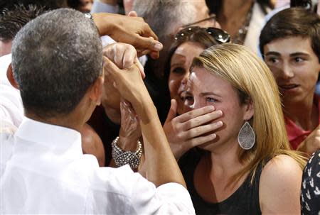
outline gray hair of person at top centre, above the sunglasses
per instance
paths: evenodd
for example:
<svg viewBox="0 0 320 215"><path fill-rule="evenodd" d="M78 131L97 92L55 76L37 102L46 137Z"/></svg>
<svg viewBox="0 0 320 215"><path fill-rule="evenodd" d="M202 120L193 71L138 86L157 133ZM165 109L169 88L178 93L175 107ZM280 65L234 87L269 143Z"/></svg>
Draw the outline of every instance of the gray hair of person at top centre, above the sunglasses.
<svg viewBox="0 0 320 215"><path fill-rule="evenodd" d="M133 10L144 18L161 42L164 42L166 35L173 33L175 28L196 21L196 16L192 16L196 14L196 7L190 1L135 0Z"/></svg>

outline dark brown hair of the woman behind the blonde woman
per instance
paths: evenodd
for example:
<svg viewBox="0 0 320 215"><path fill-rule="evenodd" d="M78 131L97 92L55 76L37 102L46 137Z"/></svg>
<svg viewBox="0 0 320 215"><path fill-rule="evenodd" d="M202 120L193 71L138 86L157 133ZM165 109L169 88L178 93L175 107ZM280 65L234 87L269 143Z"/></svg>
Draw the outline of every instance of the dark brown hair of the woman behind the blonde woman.
<svg viewBox="0 0 320 215"><path fill-rule="evenodd" d="M184 37L181 40L176 40L174 44L171 45L171 48L169 49L169 54L166 58L166 65L164 70L164 80L166 81L166 89L169 90L168 79L170 75L171 57L172 55L174 55L174 52L182 43L186 43L186 42L199 43L200 45L203 45L204 49L209 48L212 45L219 44L213 38L213 36L208 34L206 31L204 31L204 29L205 28L197 28L197 30L191 33L190 35Z"/></svg>

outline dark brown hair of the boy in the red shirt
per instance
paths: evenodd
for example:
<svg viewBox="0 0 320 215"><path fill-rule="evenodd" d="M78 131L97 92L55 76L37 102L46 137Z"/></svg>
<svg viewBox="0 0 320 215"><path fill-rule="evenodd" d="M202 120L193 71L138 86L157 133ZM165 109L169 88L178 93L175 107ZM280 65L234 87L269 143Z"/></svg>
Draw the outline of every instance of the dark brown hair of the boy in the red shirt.
<svg viewBox="0 0 320 215"><path fill-rule="evenodd" d="M320 62L320 17L302 7L285 9L272 16L261 31L260 52L263 54L267 43L292 36L310 38L311 48Z"/></svg>

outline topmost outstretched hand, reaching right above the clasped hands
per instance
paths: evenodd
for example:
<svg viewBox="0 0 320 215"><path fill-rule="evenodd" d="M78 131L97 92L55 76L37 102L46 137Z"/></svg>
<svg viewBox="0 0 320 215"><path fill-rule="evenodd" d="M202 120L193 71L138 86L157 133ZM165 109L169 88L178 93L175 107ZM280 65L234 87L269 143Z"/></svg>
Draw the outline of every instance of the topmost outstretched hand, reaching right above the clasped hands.
<svg viewBox="0 0 320 215"><path fill-rule="evenodd" d="M135 12L129 16L114 13L93 13L93 21L100 35L109 35L121 43L128 43L137 49L139 56L149 54L152 58L159 57L162 44L143 18Z"/></svg>

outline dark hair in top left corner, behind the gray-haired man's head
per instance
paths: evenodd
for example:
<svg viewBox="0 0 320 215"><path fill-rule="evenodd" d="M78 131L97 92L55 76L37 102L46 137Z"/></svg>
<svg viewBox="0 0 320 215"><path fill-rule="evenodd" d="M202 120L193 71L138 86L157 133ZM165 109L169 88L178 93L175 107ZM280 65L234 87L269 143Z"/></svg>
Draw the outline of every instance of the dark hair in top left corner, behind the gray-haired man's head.
<svg viewBox="0 0 320 215"><path fill-rule="evenodd" d="M29 4L14 5L13 9L4 9L0 16L0 40L13 40L18 31L29 21L46 11L43 6Z"/></svg>

